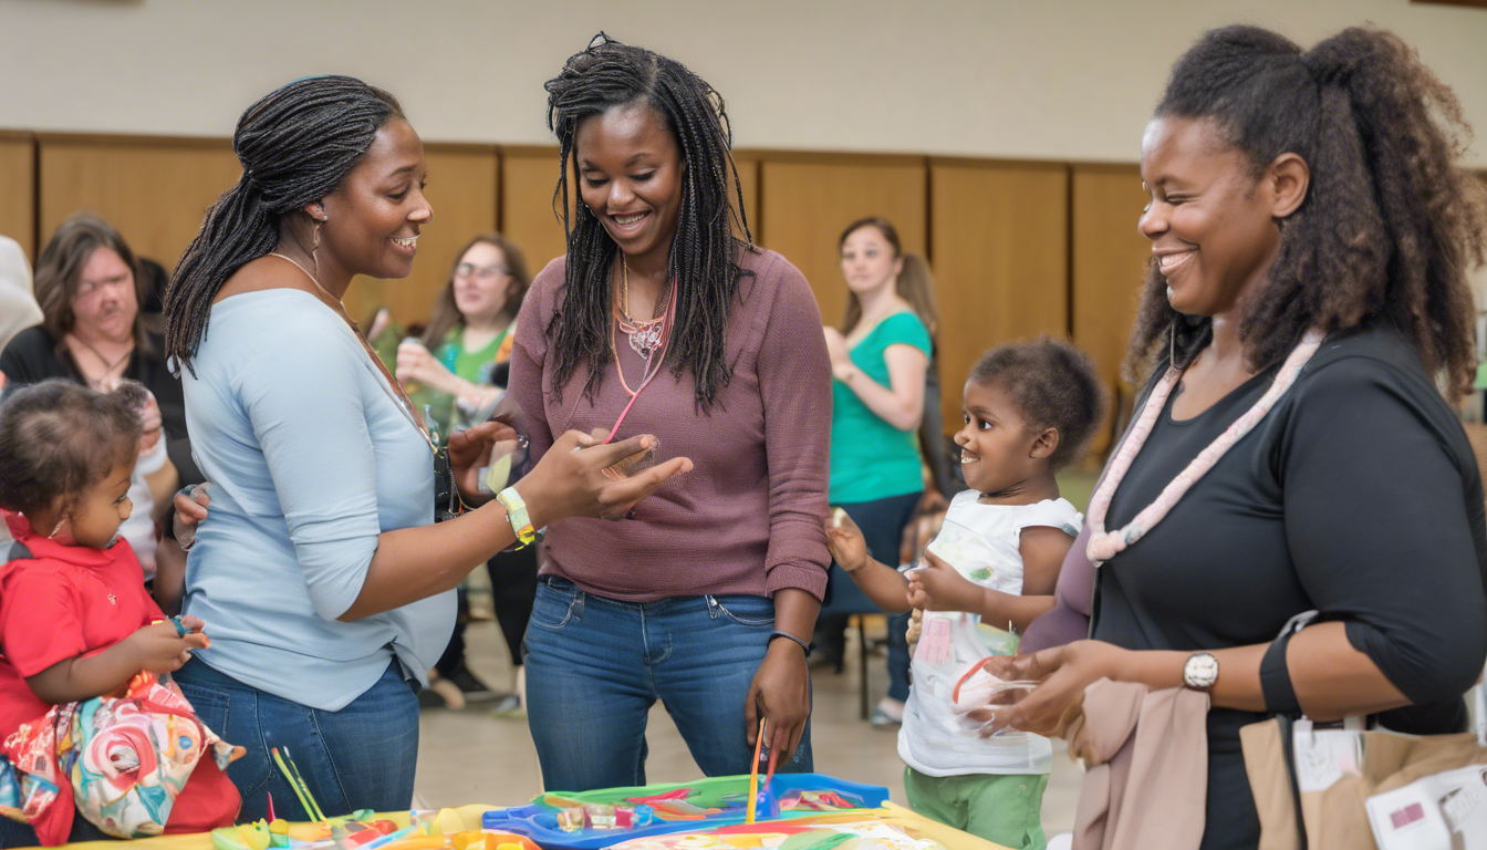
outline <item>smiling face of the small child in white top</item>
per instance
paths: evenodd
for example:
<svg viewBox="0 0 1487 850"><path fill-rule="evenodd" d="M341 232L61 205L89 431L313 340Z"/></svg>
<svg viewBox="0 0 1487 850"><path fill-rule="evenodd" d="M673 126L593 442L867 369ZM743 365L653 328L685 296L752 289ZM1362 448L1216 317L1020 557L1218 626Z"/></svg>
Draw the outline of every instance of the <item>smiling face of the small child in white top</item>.
<svg viewBox="0 0 1487 850"><path fill-rule="evenodd" d="M1053 448L1039 444L1042 432L1023 418L1002 381L967 381L964 414L955 444L971 490L1001 493L1047 469Z"/></svg>

